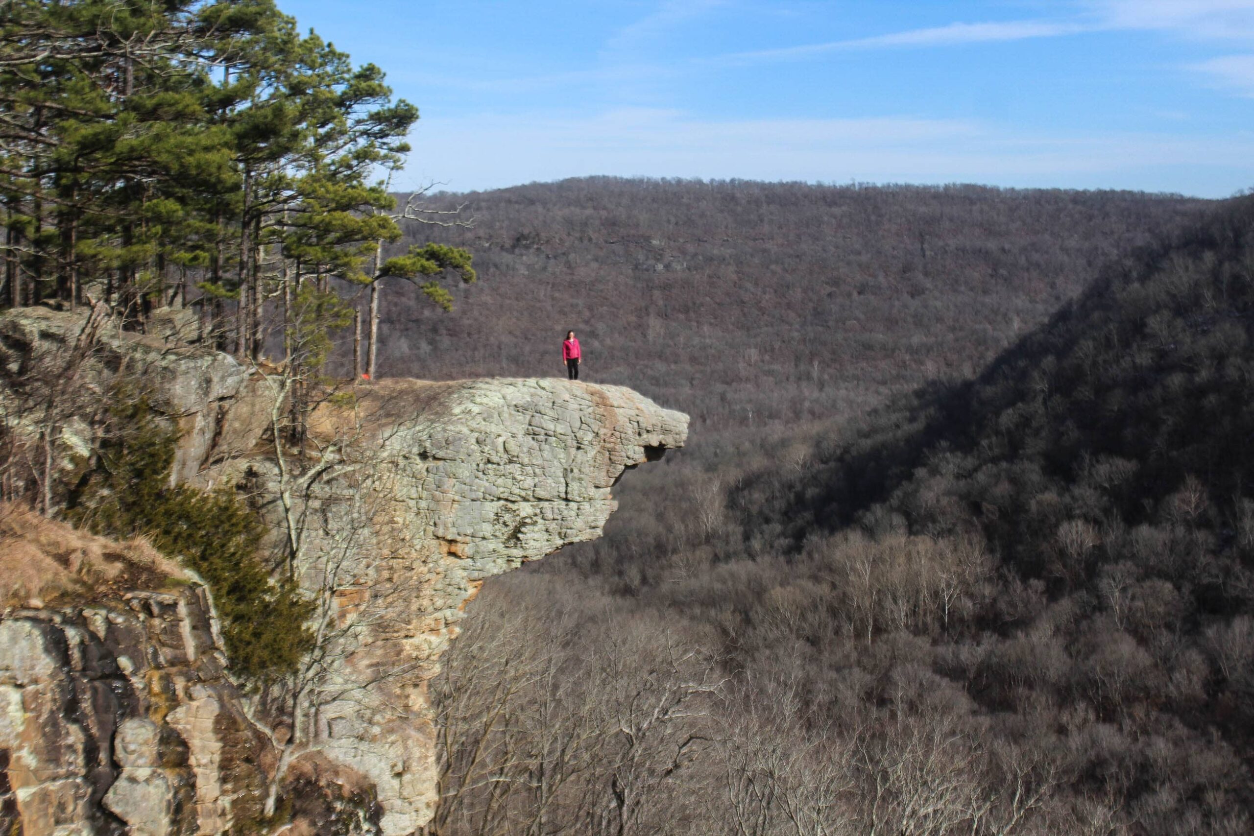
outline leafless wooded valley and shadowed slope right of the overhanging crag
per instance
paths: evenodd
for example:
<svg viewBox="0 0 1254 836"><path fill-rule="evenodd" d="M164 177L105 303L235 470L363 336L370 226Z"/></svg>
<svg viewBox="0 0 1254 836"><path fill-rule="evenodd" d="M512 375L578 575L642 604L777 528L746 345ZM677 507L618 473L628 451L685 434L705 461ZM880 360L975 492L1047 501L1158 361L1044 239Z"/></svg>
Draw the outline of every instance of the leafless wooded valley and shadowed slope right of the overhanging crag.
<svg viewBox="0 0 1254 836"><path fill-rule="evenodd" d="M637 832L1248 832L1250 263L1246 198L968 382L642 474L604 541L485 590L441 832L583 832L613 787Z"/></svg>

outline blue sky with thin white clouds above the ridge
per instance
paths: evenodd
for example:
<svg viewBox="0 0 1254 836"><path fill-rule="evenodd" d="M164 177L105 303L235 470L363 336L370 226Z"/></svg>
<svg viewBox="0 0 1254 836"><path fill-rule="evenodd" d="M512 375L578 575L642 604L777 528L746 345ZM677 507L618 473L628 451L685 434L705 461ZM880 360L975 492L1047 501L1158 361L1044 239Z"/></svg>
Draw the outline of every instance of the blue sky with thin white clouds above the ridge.
<svg viewBox="0 0 1254 836"><path fill-rule="evenodd" d="M419 105L400 188L1254 187L1254 0L280 0Z"/></svg>

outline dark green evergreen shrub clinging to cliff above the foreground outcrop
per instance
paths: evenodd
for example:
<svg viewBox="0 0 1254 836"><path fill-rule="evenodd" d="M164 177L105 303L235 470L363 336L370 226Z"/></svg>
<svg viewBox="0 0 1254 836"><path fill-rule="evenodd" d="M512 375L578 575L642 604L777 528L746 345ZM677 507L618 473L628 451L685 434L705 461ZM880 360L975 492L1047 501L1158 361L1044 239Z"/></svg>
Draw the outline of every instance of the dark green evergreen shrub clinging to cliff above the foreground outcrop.
<svg viewBox="0 0 1254 836"><path fill-rule="evenodd" d="M107 427L68 516L98 534L144 535L204 578L236 674L258 682L295 671L312 644L311 604L295 584L271 580L257 513L231 488L171 486L178 434L153 417L144 397L119 394Z"/></svg>

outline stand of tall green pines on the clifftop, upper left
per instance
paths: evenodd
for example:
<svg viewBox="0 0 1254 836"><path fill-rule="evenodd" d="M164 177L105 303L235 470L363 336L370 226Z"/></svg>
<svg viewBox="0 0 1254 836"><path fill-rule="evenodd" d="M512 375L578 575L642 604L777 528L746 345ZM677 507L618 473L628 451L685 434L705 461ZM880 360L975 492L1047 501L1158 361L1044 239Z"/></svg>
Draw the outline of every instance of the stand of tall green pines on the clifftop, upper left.
<svg viewBox="0 0 1254 836"><path fill-rule="evenodd" d="M384 277L379 248L400 237L386 184L418 109L377 66L300 34L271 0L4 10L6 303L85 293L137 328L153 307L197 303L219 347L256 360L267 330L293 327L307 281Z"/></svg>

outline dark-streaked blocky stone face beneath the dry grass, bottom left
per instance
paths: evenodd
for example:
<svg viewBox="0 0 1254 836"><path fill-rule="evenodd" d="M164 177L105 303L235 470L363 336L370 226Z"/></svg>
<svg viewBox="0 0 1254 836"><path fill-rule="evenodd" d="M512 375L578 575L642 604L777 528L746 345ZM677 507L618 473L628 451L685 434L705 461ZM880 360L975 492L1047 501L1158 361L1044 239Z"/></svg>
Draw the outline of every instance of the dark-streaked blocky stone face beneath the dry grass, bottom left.
<svg viewBox="0 0 1254 836"><path fill-rule="evenodd" d="M21 832L224 832L260 810L267 736L222 672L203 588L0 620L0 750ZM177 714L228 704L212 728ZM196 762L188 751L212 751Z"/></svg>

